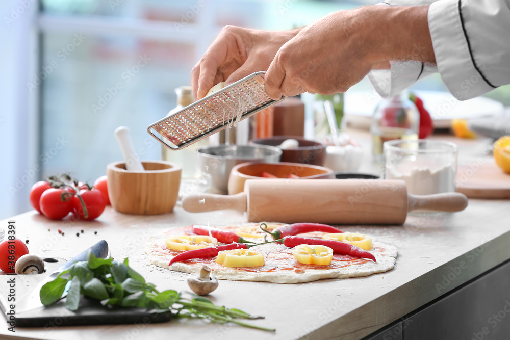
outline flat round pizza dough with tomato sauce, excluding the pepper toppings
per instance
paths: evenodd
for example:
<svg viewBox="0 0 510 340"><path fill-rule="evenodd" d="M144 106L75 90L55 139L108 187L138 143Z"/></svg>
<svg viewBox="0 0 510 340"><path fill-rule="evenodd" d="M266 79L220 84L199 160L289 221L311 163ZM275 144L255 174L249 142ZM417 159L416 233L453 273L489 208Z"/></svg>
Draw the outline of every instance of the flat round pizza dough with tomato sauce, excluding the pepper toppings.
<svg viewBox="0 0 510 340"><path fill-rule="evenodd" d="M234 228L233 226L224 227L230 230ZM183 233L183 229L170 229L151 237L145 246L145 253L148 255L150 264L183 273L198 273L201 266L206 264L211 268L213 275L220 280L302 283L383 273L395 266L398 252L394 246L373 241L374 248L370 252L375 255L377 260L375 263L363 258L335 254L330 266L321 267L299 264L292 256L292 248L283 244L270 243L250 248L264 255L266 264L263 267L227 268L217 264L215 257L176 262L169 267L168 263L175 253L172 254L172 251L166 248L165 239ZM262 241L261 239L250 240Z"/></svg>

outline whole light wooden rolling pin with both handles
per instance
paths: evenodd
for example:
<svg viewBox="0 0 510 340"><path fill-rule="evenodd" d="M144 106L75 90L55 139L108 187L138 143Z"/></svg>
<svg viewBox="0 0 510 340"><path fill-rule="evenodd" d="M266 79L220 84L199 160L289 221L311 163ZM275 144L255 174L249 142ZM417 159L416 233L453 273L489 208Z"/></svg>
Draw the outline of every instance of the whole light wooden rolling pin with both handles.
<svg viewBox="0 0 510 340"><path fill-rule="evenodd" d="M244 192L189 195L188 212L222 209L247 212L249 222L402 224L407 212L458 212L468 205L461 193L407 194L403 180L250 179Z"/></svg>

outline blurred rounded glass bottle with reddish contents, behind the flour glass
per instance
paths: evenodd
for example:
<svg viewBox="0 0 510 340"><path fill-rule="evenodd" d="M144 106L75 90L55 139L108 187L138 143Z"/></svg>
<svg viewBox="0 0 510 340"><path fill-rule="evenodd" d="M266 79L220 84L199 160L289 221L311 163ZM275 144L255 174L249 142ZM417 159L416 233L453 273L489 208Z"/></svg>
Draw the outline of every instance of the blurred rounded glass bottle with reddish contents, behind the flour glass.
<svg viewBox="0 0 510 340"><path fill-rule="evenodd" d="M370 126L374 159L382 160L382 144L386 141L417 140L419 128L420 113L406 91L382 100L374 111Z"/></svg>

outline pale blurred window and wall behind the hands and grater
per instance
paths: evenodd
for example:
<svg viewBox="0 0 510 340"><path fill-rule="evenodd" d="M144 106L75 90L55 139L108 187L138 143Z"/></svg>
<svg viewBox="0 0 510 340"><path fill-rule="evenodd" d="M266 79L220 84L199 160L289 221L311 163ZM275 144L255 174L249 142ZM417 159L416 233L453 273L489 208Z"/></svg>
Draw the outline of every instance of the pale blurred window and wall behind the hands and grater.
<svg viewBox="0 0 510 340"><path fill-rule="evenodd" d="M174 89L224 25L287 30L376 2L3 0L0 218L30 210L30 187L48 175L104 175L122 159L118 126L143 159L160 159L146 127L176 106ZM446 90L438 75L413 88ZM359 90L372 91L368 80L349 91ZM487 96L510 105L508 87Z"/></svg>

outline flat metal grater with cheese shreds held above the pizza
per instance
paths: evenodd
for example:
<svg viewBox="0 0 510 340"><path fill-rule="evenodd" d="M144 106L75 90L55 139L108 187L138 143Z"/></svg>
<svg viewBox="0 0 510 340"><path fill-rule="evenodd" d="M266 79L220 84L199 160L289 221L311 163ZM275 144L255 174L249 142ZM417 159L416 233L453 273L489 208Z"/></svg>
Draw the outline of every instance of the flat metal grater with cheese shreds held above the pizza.
<svg viewBox="0 0 510 340"><path fill-rule="evenodd" d="M269 98L264 73L255 72L147 127L147 132L173 150L180 150L285 99Z"/></svg>

